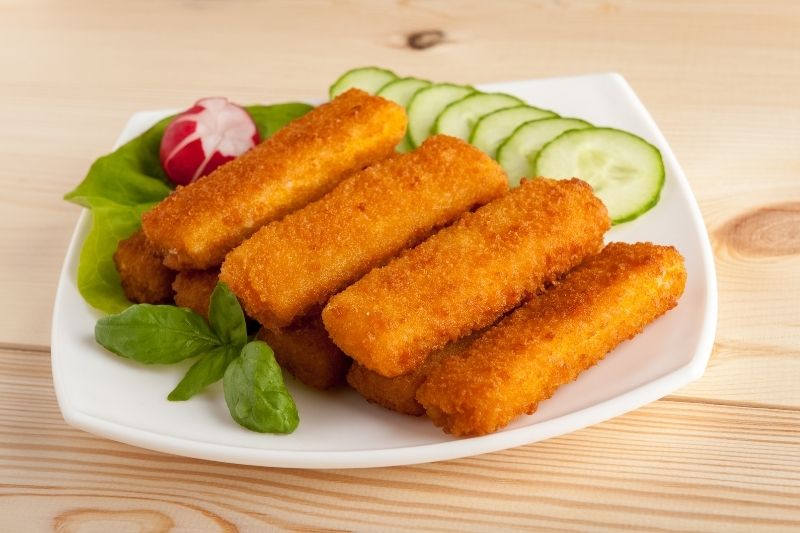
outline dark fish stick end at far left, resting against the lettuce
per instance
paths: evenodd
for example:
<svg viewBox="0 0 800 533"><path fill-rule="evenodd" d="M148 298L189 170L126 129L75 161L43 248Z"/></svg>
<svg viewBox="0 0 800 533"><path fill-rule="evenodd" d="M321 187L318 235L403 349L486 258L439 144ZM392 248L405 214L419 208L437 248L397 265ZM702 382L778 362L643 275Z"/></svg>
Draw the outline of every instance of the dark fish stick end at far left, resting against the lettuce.
<svg viewBox="0 0 800 533"><path fill-rule="evenodd" d="M147 304L172 301L175 271L162 264L161 256L148 244L141 230L119 241L114 264L122 290L130 301Z"/></svg>

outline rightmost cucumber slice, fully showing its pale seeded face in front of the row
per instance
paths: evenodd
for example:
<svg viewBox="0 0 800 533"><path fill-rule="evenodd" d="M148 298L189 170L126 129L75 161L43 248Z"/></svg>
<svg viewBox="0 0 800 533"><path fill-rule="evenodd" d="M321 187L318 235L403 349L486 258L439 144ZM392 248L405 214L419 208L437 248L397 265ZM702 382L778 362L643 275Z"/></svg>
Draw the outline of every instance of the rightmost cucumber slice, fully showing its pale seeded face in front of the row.
<svg viewBox="0 0 800 533"><path fill-rule="evenodd" d="M658 148L614 128L567 131L541 149L535 165L542 176L587 181L614 224L633 220L656 205L664 186Z"/></svg>

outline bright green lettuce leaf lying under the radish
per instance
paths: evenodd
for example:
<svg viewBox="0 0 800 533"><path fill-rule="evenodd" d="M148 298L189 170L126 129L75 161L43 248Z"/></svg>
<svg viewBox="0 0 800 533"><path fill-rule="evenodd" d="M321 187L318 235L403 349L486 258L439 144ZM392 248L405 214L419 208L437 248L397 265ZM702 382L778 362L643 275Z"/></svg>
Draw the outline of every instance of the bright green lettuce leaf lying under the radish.
<svg viewBox="0 0 800 533"><path fill-rule="evenodd" d="M308 104L287 103L246 106L262 139L313 109ZM92 227L81 248L78 290L92 307L119 313L131 305L120 285L114 252L120 240L141 226L142 213L172 190L158 157L161 137L172 117L167 117L114 152L97 159L84 180L64 196L89 208Z"/></svg>

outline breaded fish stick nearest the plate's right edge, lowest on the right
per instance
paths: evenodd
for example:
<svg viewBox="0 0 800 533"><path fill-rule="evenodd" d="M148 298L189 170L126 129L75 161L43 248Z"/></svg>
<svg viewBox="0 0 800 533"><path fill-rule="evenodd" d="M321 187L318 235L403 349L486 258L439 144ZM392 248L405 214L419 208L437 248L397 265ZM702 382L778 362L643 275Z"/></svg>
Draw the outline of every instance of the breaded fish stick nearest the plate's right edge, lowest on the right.
<svg viewBox="0 0 800 533"><path fill-rule="evenodd" d="M675 307L685 283L674 248L609 244L463 354L437 363L417 400L448 433L496 431L533 413L558 387Z"/></svg>

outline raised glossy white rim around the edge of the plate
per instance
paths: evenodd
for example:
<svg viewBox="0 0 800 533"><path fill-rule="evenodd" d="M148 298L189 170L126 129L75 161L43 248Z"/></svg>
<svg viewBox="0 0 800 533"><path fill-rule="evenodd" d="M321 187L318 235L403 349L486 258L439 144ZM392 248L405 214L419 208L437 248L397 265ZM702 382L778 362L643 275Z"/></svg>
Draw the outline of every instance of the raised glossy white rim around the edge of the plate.
<svg viewBox="0 0 800 533"><path fill-rule="evenodd" d="M627 80L617 72L607 72L504 81L482 84L477 87L491 87L529 81L546 82L596 77L608 77L613 79L626 93L626 98L636 108L639 117L647 123L654 133L654 139L652 140L655 141L654 144L662 149L662 155L667 160L667 166L671 166L675 169L673 179L676 185L689 199L687 205L692 215L693 229L699 236L701 262L704 267L703 279L706 281L704 294L706 312L703 316L702 329L695 352L690 361L684 366L649 382L639 384L635 388L618 394L613 398L565 415L537 422L530 426L515 428L512 432L505 433L504 439L493 438L494 434L491 434L455 440L454 442L458 442L459 446L448 446L451 442L437 442L416 446L403 446L400 448L370 450L280 450L203 442L126 426L119 422L107 420L74 409L70 405L69 398L65 392L65 378L62 375L64 369L58 363L60 360L58 354L61 352L61 348L56 339L59 333L59 328L57 328L57 311L62 307L61 301L64 298L66 287L72 281L70 279L69 270L70 265L75 260L75 254L80 253L80 243L78 241L85 238L90 224L90 212L88 209L83 208L70 238L64 263L59 274L56 297L53 305L53 316L51 319L51 368L53 384L59 409L61 410L64 420L73 427L104 438L140 448L196 459L282 468L372 468L421 464L471 457L483 453L511 449L525 444L532 444L548 438L571 433L578 429L615 418L621 414L640 409L644 405L658 400L670 392L700 378L711 357L718 317L718 287L711 242L700 207L697 203L697 197L691 189L683 168L677 161L672 148L660 128L658 128L655 120L647 111ZM121 144L123 135L132 122L138 121L143 115L152 118L170 112L174 112L174 110L143 110L131 115L114 145L115 149Z"/></svg>

